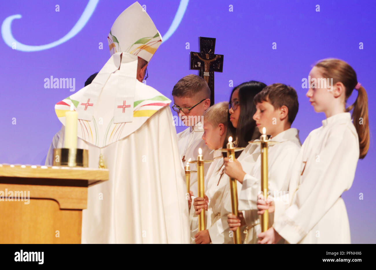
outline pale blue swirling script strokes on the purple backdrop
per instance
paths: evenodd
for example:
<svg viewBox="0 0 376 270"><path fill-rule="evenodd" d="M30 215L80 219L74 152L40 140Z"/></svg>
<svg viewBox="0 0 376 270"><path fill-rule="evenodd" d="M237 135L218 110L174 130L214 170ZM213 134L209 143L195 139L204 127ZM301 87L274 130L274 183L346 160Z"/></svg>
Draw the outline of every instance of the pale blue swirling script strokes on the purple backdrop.
<svg viewBox="0 0 376 270"><path fill-rule="evenodd" d="M67 33L67 35L63 36L61 39L58 39L54 42L45 45L38 45L38 46L31 46L23 44L17 41L14 36L12 35L12 21L15 19L20 19L22 16L20 14L11 15L7 17L1 26L1 33L5 43L12 48L12 44L16 44L16 49L22 52L36 52L41 50L47 50L53 47L56 47L69 39L73 38L77 33L81 31L81 29L86 25L89 21L91 15L93 14L94 10L97 7L99 0L89 0L88 5L86 6L85 10L83 11L81 17L77 21L77 23L73 26L73 28ZM189 0L180 0L179 8L177 9L176 15L174 20L171 23L170 28L167 30L167 33L162 37L163 42L167 41L168 38L176 31L177 27L179 26L180 22L182 21L183 15L186 11L188 6Z"/></svg>

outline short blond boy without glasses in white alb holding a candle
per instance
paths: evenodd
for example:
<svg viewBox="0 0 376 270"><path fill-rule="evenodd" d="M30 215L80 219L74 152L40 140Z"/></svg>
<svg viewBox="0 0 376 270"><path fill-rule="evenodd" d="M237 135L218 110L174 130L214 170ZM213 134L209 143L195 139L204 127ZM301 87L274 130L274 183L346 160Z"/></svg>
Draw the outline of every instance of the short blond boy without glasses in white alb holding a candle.
<svg viewBox="0 0 376 270"><path fill-rule="evenodd" d="M193 243L223 244L232 243L229 237L227 221L223 216L223 199L229 193L229 181L223 174L223 155L220 149L226 140L228 103L221 102L210 107L204 114L204 134L202 138L209 149L214 150L214 161L211 163L205 178L205 199L194 198L191 211L193 218ZM205 202L206 200L206 202ZM206 230L198 231L198 214L206 209Z"/></svg>

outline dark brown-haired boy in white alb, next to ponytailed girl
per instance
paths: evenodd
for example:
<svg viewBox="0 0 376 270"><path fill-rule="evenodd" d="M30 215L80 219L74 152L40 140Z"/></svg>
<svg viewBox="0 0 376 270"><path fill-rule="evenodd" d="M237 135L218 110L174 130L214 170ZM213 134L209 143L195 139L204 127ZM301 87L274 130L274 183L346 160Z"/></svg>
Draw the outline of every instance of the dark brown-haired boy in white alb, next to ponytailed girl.
<svg viewBox="0 0 376 270"><path fill-rule="evenodd" d="M271 135L269 140L276 142L276 144L268 146L268 190L271 193L286 192L288 190L286 179L288 179L289 168L298 155L301 146L299 131L291 128L299 108L296 91L282 83L274 83L258 93L254 102L257 111L253 115L253 119L256 121L260 132L265 128L266 133ZM254 159L254 156L258 153L256 164L252 168L242 168L237 160L235 162L229 162L227 158L224 160L225 173L242 183L242 190L238 195L238 209L244 210L244 217L242 214L238 218L229 214L228 223L232 230L236 230L239 225L245 224L247 226L245 243L256 243L257 234L261 232L260 219L257 214L257 198L261 191L260 146L258 144L255 147L255 144L249 144L247 148L251 147L253 147L254 152L252 155L245 156L244 160ZM246 170L248 174L243 170ZM230 210L230 207L231 205L227 203L226 208ZM273 223L272 218L270 223Z"/></svg>

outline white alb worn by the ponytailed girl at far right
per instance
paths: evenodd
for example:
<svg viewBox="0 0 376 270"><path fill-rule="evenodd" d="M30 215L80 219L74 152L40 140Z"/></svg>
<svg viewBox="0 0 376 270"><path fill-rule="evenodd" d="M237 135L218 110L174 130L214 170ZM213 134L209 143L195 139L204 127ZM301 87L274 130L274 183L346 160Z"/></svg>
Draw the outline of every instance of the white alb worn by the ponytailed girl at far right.
<svg viewBox="0 0 376 270"><path fill-rule="evenodd" d="M341 194L354 180L358 134L349 112L322 123L309 133L293 165L289 207L280 200L275 202L273 227L286 243L350 243Z"/></svg>

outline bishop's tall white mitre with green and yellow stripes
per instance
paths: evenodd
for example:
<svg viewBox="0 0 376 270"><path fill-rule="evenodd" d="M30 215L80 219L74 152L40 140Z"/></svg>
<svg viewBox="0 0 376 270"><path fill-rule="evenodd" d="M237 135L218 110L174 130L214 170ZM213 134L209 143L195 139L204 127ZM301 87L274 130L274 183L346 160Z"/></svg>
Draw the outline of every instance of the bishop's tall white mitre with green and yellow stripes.
<svg viewBox="0 0 376 270"><path fill-rule="evenodd" d="M107 39L111 55L127 52L148 62L162 43L152 19L138 2L117 17Z"/></svg>

